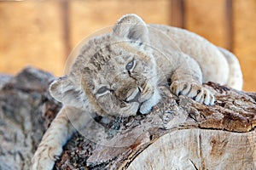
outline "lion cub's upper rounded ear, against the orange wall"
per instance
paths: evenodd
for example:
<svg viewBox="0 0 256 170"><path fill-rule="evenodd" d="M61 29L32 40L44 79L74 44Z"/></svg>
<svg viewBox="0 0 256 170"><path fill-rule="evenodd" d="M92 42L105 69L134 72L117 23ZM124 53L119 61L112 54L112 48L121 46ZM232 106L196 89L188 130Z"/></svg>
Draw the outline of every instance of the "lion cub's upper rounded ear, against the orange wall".
<svg viewBox="0 0 256 170"><path fill-rule="evenodd" d="M149 43L148 28L137 14L126 14L113 27L113 35L123 40Z"/></svg>

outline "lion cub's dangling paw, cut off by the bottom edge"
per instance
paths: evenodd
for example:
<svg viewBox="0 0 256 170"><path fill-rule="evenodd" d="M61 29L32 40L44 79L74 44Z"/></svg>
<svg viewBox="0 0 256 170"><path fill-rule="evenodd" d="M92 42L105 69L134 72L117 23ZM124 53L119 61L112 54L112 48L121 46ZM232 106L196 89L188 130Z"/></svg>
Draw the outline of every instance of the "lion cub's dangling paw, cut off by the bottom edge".
<svg viewBox="0 0 256 170"><path fill-rule="evenodd" d="M57 145L40 145L32 158L31 170L50 170L54 167L55 161L61 156L62 148Z"/></svg>

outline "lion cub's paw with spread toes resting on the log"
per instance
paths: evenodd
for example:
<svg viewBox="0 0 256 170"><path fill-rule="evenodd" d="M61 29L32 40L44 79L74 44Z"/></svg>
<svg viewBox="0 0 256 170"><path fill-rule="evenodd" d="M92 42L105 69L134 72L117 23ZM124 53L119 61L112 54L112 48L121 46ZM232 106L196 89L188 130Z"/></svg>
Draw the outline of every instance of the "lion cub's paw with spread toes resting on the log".
<svg viewBox="0 0 256 170"><path fill-rule="evenodd" d="M171 92L179 95L185 95L195 101L205 105L214 105L214 95L207 89L195 82L172 82Z"/></svg>

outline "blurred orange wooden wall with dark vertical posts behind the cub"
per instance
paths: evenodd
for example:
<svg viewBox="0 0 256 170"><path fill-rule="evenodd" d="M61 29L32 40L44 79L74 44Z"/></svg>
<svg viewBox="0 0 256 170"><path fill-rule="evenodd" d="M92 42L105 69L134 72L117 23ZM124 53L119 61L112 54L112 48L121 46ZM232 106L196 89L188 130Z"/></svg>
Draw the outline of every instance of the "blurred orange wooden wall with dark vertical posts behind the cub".
<svg viewBox="0 0 256 170"><path fill-rule="evenodd" d="M241 62L244 90L256 91L255 0L0 1L0 72L33 65L61 76L77 43L128 13L228 48Z"/></svg>

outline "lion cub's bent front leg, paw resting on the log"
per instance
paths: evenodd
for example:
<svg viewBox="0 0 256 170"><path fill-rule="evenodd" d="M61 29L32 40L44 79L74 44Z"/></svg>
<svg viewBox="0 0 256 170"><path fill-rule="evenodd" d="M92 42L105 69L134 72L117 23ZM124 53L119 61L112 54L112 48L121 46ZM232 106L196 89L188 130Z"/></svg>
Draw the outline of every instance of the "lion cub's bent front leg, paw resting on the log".
<svg viewBox="0 0 256 170"><path fill-rule="evenodd" d="M173 94L185 95L205 105L214 104L214 95L202 86L202 74L194 59L186 58L172 75L170 90Z"/></svg>

